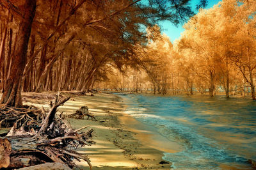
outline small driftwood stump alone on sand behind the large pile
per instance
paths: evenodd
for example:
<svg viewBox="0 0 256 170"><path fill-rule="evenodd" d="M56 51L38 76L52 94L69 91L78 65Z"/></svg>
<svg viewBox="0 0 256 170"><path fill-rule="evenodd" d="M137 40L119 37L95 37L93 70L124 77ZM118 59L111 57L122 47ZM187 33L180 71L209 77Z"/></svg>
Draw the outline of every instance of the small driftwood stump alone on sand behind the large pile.
<svg viewBox="0 0 256 170"><path fill-rule="evenodd" d="M95 116L91 112L89 112L87 106L82 106L79 110L77 110L75 113L68 115L68 118L74 118L77 120L83 120L84 116L87 116L87 120L91 118L92 120L96 120Z"/></svg>

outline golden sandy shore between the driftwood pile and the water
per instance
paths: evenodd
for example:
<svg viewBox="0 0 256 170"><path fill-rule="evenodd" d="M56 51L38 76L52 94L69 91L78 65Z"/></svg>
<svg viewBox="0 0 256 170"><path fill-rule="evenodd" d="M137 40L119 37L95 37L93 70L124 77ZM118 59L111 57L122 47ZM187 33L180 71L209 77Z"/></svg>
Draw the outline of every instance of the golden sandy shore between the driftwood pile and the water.
<svg viewBox="0 0 256 170"><path fill-rule="evenodd" d="M26 95L30 94L24 94ZM43 104L44 107L49 107L47 104L49 99L38 100L38 104L35 104L35 99L25 98L25 100L25 104L33 102L33 105ZM182 149L179 145L154 133L154 128L143 125L125 114L124 103L115 95L103 93L95 94L94 97L74 95L60 107L60 111L72 113L83 105L89 107L89 111L98 121L74 119L69 121L74 128L89 125L88 128L95 130L93 139L96 144L78 150L90 157L93 169L170 169L171 163L159 164L163 161L163 153ZM86 162L77 162L77 165L89 169Z"/></svg>

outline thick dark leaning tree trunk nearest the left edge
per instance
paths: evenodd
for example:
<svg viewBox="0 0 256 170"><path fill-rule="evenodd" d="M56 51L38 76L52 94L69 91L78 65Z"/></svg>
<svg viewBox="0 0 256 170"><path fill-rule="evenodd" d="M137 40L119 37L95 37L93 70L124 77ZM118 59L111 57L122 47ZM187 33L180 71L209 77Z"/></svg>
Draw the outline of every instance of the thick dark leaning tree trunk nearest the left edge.
<svg viewBox="0 0 256 170"><path fill-rule="evenodd" d="M26 0L24 16L20 20L19 31L17 33L17 44L12 55L13 63L10 69L10 77L6 81L6 87L0 101L1 104L22 107L20 81L26 65L26 53L35 10L36 0Z"/></svg>

